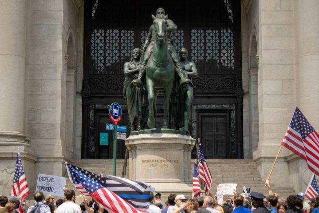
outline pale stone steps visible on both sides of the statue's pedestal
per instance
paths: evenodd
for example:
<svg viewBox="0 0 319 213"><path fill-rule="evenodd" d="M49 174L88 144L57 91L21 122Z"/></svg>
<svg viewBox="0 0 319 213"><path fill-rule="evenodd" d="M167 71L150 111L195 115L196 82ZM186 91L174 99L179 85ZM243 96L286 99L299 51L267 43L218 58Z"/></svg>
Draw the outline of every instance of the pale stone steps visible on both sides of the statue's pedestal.
<svg viewBox="0 0 319 213"><path fill-rule="evenodd" d="M193 163L192 162L192 170ZM265 187L265 182L262 181L259 171L252 159L207 159L207 165L212 173L213 188L211 193L214 195L217 190L218 184L223 183L236 183L238 194L242 193L243 186L251 188L251 191L257 191L268 195L268 190ZM71 164L80 168L86 169L94 173L113 174L113 160L112 159L82 159L75 160ZM124 160L117 160L117 176L122 175ZM128 174L127 167L127 173ZM71 186L71 182L68 180L67 185L70 189L75 190L74 186ZM295 191L291 187L276 187L272 183L273 192L276 192L280 197L287 198L289 195L295 194ZM77 192L77 190L75 190ZM79 194L77 194L79 195Z"/></svg>

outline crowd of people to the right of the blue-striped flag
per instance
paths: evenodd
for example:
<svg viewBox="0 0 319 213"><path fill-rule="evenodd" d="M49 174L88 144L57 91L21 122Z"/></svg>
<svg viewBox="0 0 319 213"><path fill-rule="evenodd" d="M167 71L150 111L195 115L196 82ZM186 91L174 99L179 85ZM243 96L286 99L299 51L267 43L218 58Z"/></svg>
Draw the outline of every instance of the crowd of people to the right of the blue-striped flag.
<svg viewBox="0 0 319 213"><path fill-rule="evenodd" d="M258 192L235 195L221 204L213 196L188 199L184 195L170 194L162 205L160 193L151 202L150 213L319 213L319 196L310 202L304 193L286 199L277 194L264 196Z"/></svg>

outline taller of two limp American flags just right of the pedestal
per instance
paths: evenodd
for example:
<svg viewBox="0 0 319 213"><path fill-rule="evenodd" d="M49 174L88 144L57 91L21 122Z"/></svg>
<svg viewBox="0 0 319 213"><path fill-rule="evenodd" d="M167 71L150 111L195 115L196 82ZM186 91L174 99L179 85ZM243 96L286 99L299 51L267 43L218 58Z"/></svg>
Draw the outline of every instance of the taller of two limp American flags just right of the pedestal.
<svg viewBox="0 0 319 213"><path fill-rule="evenodd" d="M207 193L213 186L213 179L205 161L200 141L198 141L198 178L204 184L204 190Z"/></svg>

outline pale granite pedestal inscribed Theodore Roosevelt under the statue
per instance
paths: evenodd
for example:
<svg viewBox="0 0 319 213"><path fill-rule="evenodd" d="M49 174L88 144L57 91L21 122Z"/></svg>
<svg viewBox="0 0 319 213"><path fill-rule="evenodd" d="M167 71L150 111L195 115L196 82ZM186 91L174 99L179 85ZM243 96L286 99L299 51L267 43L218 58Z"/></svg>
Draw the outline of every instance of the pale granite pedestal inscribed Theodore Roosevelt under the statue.
<svg viewBox="0 0 319 213"><path fill-rule="evenodd" d="M146 182L164 195L191 195L193 138L176 130L149 129L132 132L125 144L129 179Z"/></svg>

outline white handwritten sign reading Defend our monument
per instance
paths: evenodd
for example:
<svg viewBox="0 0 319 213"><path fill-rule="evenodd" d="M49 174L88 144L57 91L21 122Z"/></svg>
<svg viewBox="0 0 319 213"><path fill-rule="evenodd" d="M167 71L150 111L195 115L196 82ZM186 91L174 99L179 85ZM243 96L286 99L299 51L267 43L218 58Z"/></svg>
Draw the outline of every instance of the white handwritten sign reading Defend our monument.
<svg viewBox="0 0 319 213"><path fill-rule="evenodd" d="M66 178L39 174L35 191L41 190L44 195L63 197Z"/></svg>

